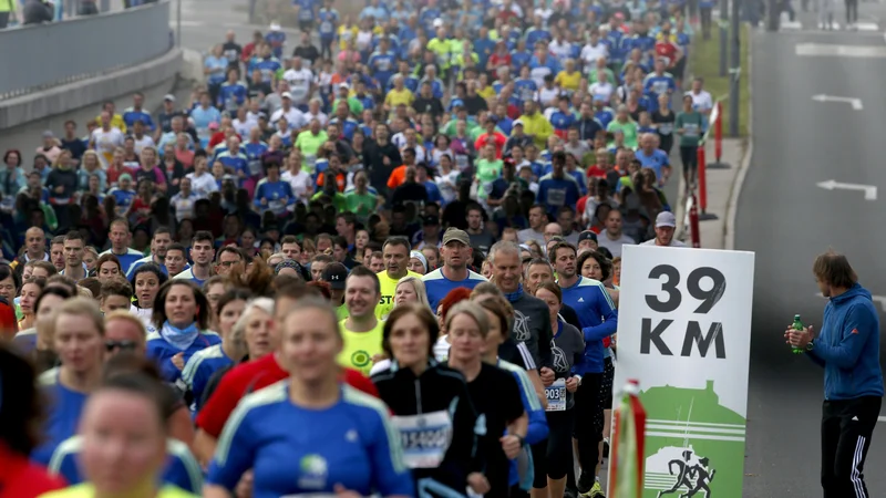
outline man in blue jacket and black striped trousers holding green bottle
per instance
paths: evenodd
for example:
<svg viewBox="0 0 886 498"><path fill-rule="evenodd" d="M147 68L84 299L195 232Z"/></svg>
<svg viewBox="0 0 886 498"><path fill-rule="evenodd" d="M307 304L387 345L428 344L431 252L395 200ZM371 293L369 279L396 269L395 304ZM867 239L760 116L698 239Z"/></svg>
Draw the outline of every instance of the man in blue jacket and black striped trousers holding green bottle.
<svg viewBox="0 0 886 498"><path fill-rule="evenodd" d="M862 470L883 401L879 318L870 292L843 255L826 252L813 273L824 309L818 336L807 326L785 331L787 343L824 367L822 487L824 498L867 498Z"/></svg>

